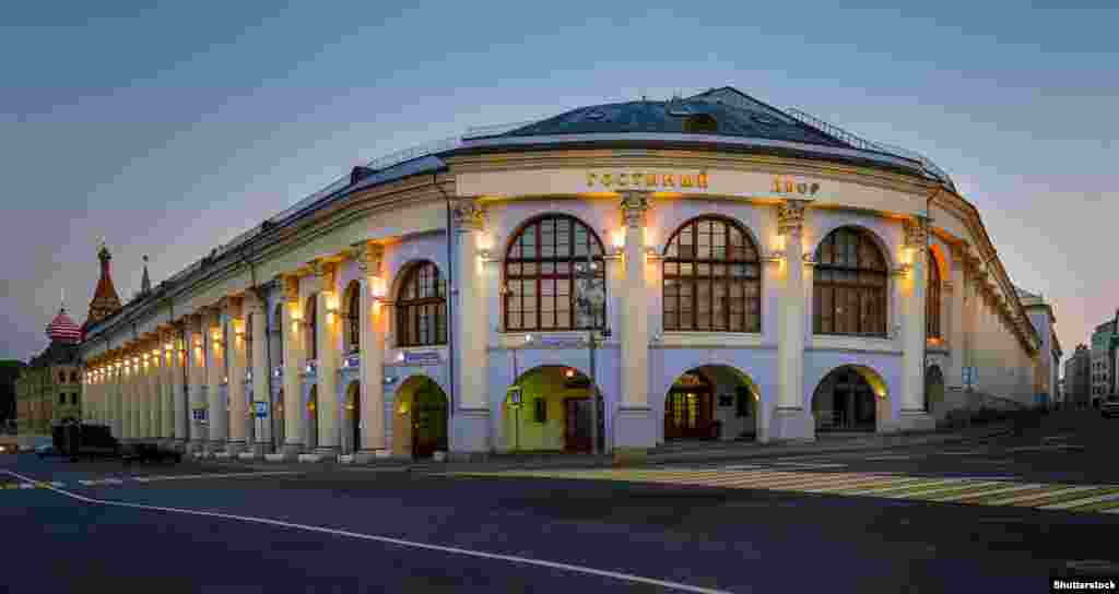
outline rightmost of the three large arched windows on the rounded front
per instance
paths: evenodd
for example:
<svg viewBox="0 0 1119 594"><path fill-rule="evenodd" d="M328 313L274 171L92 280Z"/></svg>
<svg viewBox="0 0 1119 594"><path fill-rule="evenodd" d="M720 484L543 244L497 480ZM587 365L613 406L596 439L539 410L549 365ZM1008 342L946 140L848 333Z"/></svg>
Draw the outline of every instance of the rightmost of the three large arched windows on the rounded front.
<svg viewBox="0 0 1119 594"><path fill-rule="evenodd" d="M840 227L816 251L812 330L818 334L886 334L886 260L862 229Z"/></svg>

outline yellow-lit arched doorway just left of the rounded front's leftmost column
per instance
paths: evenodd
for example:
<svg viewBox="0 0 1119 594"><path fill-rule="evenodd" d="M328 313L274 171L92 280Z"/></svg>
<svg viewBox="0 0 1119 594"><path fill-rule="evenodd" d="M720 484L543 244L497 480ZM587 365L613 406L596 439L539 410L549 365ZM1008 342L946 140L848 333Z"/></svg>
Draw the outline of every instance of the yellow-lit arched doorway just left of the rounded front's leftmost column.
<svg viewBox="0 0 1119 594"><path fill-rule="evenodd" d="M412 376L397 390L393 453L431 458L446 452L446 395L426 376Z"/></svg>

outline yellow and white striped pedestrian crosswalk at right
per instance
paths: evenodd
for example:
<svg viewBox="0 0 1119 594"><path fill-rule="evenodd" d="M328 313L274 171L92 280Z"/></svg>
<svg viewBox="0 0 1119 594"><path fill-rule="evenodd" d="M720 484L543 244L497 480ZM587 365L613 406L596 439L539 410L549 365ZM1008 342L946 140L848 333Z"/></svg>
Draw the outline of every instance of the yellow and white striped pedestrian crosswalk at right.
<svg viewBox="0 0 1119 594"><path fill-rule="evenodd" d="M815 469L814 469L815 470ZM746 464L711 469L502 470L463 477L591 479L724 489L1119 513L1119 484L1021 482L1004 477L914 477L895 472L807 472Z"/></svg>

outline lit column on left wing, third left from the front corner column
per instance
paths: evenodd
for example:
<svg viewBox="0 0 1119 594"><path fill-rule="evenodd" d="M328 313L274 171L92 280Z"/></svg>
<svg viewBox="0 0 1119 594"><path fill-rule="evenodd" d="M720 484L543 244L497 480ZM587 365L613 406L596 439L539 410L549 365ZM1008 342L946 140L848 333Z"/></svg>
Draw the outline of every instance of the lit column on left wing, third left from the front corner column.
<svg viewBox="0 0 1119 594"><path fill-rule="evenodd" d="M340 451L341 424L338 399L338 291L335 287L335 265L322 261L314 263L318 281L314 315L318 336L316 384L318 386L319 443L317 453L336 456Z"/></svg>

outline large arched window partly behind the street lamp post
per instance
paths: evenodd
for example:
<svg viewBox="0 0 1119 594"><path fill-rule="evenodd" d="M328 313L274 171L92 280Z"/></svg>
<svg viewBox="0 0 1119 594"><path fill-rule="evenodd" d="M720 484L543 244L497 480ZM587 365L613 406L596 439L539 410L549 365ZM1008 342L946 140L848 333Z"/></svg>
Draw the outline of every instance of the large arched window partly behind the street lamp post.
<svg viewBox="0 0 1119 594"><path fill-rule="evenodd" d="M506 329L585 329L575 305L575 264L591 256L604 279L602 254L599 236L575 217L545 215L525 225L505 257ZM605 327L605 312L594 327Z"/></svg>

